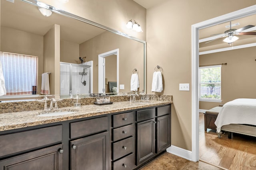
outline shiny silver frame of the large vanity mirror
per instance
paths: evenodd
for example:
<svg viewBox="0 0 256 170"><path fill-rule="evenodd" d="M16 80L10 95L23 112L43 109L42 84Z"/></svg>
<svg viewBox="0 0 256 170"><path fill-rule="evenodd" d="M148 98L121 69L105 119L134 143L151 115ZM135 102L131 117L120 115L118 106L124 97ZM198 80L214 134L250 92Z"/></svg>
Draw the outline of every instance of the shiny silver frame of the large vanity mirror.
<svg viewBox="0 0 256 170"><path fill-rule="evenodd" d="M38 7L41 7L41 8L46 8L52 12L55 12L57 14L60 14L60 15L63 15L63 16L66 16L66 17L69 17L69 18L73 18L75 20L79 20L79 21L82 21L84 23L88 23L90 25L94 25L96 27L99 27L99 28L102 28L102 29L105 29L106 31L110 31L112 33L115 33L117 35L121 35L123 37L126 37L126 38L129 38L129 39L132 39L132 40L135 40L135 41L138 41L140 43L143 43L144 44L144 92L146 92L146 41L142 40L142 39L138 39L136 37L132 37L126 33L122 33L121 31L118 31L116 29L112 29L110 27L107 27L105 25L101 25L99 23L96 23L94 21L90 21L90 20L87 20L85 18L82 18L80 16L76 16L72 13L69 13L69 12L66 12L64 10L61 10L59 8L56 8L54 6L50 6L48 4L45 4L43 2L40 2L38 0L21 0L21 1L24 1L24 2L27 2L29 4L32 4L34 6L38 6ZM54 94L52 94L54 95ZM52 96L51 95L51 96ZM35 98L35 97L41 97L42 95L21 95L21 96L1 96L0 99L18 99L18 98Z"/></svg>

